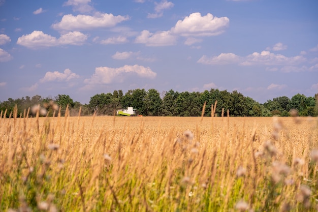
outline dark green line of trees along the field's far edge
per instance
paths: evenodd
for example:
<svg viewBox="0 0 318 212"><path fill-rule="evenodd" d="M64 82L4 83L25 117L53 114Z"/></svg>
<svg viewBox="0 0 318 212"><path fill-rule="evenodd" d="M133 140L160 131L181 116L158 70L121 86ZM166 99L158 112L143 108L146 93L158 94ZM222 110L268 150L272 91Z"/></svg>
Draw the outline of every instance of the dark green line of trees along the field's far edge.
<svg viewBox="0 0 318 212"><path fill-rule="evenodd" d="M23 117L28 108L40 105L43 113L40 115L52 116L54 110L58 108L61 115L65 115L68 107L71 116L80 115L115 115L118 109L133 107L139 114L144 116L201 116L202 108L206 103L204 115L211 115L211 106L217 101L215 115L221 116L222 113L230 116L290 116L291 110L296 109L300 116L318 115L318 94L314 97L306 97L296 94L291 99L288 97L277 97L260 104L250 97L245 97L234 90L210 89L204 92L177 92L170 89L165 92L163 97L156 89L134 89L128 90L123 94L122 90L114 90L113 93L96 94L90 97L89 104L74 102L69 95L57 95L54 98L42 98L36 95L32 98L26 96L19 99L9 98L8 101L0 102L0 111L6 111L6 116L13 114L17 108L17 116ZM81 108L81 110L80 110ZM40 108L38 108L40 109ZM55 113L57 114L57 112ZM35 111L30 110L29 116L34 116Z"/></svg>

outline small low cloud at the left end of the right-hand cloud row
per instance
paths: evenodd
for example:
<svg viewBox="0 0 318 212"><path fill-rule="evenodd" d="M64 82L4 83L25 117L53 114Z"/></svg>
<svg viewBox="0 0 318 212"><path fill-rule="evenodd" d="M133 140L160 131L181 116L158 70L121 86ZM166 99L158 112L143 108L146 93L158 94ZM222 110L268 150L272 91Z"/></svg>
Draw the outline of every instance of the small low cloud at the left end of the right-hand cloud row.
<svg viewBox="0 0 318 212"><path fill-rule="evenodd" d="M233 53L221 53L218 56L207 57L203 55L199 60L198 63L201 64L208 64L208 65L224 65L224 64L233 64L239 63L241 58Z"/></svg>

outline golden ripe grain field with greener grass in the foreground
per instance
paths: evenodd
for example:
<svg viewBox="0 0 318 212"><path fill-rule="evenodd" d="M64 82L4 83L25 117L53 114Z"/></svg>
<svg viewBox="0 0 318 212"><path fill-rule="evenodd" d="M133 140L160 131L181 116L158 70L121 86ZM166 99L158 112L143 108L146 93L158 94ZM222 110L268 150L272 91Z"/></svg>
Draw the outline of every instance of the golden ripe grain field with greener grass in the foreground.
<svg viewBox="0 0 318 212"><path fill-rule="evenodd" d="M317 117L0 119L1 211L317 211Z"/></svg>

